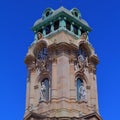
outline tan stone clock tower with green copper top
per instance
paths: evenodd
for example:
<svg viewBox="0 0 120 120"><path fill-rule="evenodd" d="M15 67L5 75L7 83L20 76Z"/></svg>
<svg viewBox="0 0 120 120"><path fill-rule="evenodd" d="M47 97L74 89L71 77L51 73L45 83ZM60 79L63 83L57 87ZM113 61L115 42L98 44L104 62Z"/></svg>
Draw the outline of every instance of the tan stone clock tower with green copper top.
<svg viewBox="0 0 120 120"><path fill-rule="evenodd" d="M102 120L88 23L78 9L47 8L28 49L24 120Z"/></svg>

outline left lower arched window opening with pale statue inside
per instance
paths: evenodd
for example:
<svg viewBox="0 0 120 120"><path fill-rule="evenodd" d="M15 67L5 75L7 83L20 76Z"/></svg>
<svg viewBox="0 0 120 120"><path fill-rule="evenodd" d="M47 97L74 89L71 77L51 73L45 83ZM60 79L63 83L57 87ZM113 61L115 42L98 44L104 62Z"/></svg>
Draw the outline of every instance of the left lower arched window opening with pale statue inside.
<svg viewBox="0 0 120 120"><path fill-rule="evenodd" d="M41 81L40 101L48 100L49 100L49 79L45 78Z"/></svg>

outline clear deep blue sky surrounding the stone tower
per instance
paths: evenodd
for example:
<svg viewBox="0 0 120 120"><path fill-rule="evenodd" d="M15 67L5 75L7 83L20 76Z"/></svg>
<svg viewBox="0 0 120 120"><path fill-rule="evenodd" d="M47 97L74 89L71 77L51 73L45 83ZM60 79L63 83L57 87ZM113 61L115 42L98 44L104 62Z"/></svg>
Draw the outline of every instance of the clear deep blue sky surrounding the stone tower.
<svg viewBox="0 0 120 120"><path fill-rule="evenodd" d="M24 58L34 39L33 23L42 12L61 6L60 0L1 0L0 2L0 119L22 120L25 110ZM104 120L120 115L120 1L62 0L76 7L92 27L89 40L100 59L97 66L99 111Z"/></svg>

